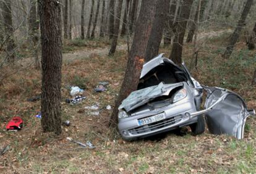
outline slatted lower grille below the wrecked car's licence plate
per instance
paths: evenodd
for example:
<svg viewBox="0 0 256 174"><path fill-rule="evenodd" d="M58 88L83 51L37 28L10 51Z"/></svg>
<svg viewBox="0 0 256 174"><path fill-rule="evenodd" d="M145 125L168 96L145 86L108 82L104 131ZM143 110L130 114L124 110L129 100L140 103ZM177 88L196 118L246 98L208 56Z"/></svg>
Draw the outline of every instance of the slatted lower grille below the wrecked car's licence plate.
<svg viewBox="0 0 256 174"><path fill-rule="evenodd" d="M153 131L153 130L158 130L160 128L164 128L164 127L169 126L169 125L173 125L175 123L180 122L181 120L182 120L182 115L177 115L177 116L174 116L174 117L166 118L164 120L160 120L160 121L155 122L155 123L150 123L148 125L138 126L137 128L132 128L128 131L132 135L137 135L137 134L140 134L140 133L147 133L147 132L150 132L150 131Z"/></svg>

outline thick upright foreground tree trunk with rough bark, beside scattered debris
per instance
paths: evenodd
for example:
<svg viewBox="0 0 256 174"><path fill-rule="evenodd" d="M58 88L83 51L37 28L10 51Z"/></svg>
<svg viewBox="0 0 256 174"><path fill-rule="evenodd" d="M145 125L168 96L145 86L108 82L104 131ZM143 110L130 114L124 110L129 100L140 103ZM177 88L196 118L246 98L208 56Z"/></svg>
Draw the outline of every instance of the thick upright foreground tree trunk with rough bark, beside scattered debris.
<svg viewBox="0 0 256 174"><path fill-rule="evenodd" d="M41 126L44 132L61 134L61 5L39 0L41 28Z"/></svg>

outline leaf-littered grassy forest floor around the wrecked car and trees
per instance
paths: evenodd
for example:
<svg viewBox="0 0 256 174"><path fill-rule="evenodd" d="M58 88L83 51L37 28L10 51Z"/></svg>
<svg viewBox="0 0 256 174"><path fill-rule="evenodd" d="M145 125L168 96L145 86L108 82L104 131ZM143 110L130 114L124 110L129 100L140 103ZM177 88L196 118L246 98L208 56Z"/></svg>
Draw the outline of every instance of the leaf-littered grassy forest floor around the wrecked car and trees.
<svg viewBox="0 0 256 174"><path fill-rule="evenodd" d="M203 85L235 91L245 99L249 108L256 109L256 88L250 85L256 67L256 51L248 51L244 39L241 39L232 57L223 60L221 54L228 36L221 31L210 38L198 37L198 65L192 75ZM70 120L70 126L62 126L61 136L42 133L40 119L35 117L40 111L40 101L27 101L40 94L40 70L26 68L2 81L0 148L9 144L11 149L0 156L0 173L256 172L256 118L253 117L247 120L242 140L211 135L208 131L192 136L187 128L181 135L171 131L127 142L116 129L109 129L107 123L111 110L105 107L114 106L124 77L127 51L125 41L121 41L116 54L108 57L108 46L108 41L101 40L77 40L64 46L62 120ZM170 50L161 47L160 52L168 56ZM187 64L193 50L193 44L184 46L183 56ZM109 81L107 91L93 91L99 81ZM87 99L75 106L67 104L70 85L85 88ZM84 109L95 103L100 104L99 116L90 115ZM22 117L25 125L18 132L6 131L6 123L14 116ZM82 148L68 141L67 137L82 143L91 141L96 148Z"/></svg>

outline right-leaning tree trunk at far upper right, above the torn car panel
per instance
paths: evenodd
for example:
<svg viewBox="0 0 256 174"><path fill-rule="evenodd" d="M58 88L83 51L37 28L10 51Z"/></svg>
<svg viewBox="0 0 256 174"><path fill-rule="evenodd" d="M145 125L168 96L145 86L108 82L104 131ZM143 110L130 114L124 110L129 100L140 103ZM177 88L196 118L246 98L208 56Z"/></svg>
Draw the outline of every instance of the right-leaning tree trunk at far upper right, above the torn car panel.
<svg viewBox="0 0 256 174"><path fill-rule="evenodd" d="M226 51L223 54L224 59L228 59L233 52L234 46L239 38L241 30L246 25L245 20L247 18L247 15L249 14L250 7L252 6L252 2L253 0L247 0L245 4L244 10L242 11L241 19L239 20L236 30L234 30L234 33L229 40L228 47L226 48Z"/></svg>

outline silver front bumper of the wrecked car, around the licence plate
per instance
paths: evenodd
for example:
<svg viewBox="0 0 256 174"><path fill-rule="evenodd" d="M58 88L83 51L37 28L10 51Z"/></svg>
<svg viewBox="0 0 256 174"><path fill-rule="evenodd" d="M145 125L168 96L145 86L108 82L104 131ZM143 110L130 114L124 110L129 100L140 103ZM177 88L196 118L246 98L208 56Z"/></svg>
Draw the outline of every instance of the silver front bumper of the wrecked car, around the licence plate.
<svg viewBox="0 0 256 174"><path fill-rule="evenodd" d="M166 118L148 125L139 125L138 120L152 115L165 113ZM186 114L189 113L189 116ZM190 125L197 122L197 116L202 115L197 112L195 105L191 101L176 106L169 106L168 109L151 110L147 114L119 119L118 129L122 138L126 140L144 138L147 136L173 130L181 126Z"/></svg>

